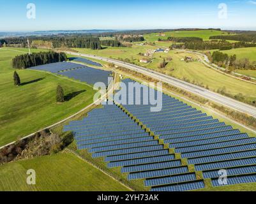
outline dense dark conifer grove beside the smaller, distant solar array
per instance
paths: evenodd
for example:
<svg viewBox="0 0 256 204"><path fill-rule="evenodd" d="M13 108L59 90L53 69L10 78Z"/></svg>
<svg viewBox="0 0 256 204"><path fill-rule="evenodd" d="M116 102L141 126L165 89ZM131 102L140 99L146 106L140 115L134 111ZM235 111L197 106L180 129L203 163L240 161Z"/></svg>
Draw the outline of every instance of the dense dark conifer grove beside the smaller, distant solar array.
<svg viewBox="0 0 256 204"><path fill-rule="evenodd" d="M15 69L26 69L42 64L67 61L68 57L64 52L39 52L33 54L19 55L13 58L12 66Z"/></svg>

